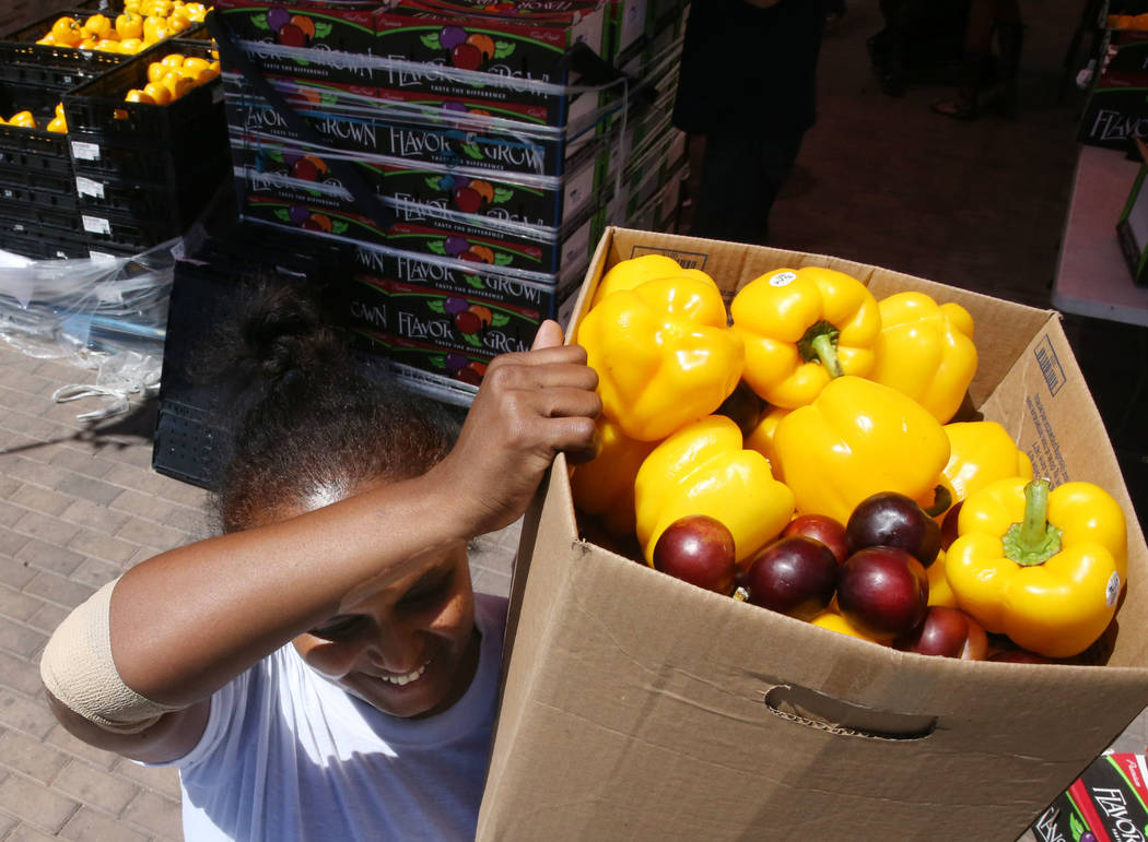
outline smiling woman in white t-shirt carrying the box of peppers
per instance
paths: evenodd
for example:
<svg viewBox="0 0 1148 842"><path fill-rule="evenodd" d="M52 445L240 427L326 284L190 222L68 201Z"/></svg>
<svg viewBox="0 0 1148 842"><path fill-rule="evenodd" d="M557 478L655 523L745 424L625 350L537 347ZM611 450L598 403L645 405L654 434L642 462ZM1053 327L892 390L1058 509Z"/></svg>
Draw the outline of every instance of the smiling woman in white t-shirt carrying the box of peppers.
<svg viewBox="0 0 1148 842"><path fill-rule="evenodd" d="M219 496L225 533L96 593L41 660L79 739L179 767L199 840L471 839L505 605L467 541L512 523L600 403L544 323L489 367L452 443L434 405L366 376L310 306L264 302Z"/></svg>

